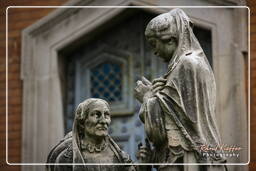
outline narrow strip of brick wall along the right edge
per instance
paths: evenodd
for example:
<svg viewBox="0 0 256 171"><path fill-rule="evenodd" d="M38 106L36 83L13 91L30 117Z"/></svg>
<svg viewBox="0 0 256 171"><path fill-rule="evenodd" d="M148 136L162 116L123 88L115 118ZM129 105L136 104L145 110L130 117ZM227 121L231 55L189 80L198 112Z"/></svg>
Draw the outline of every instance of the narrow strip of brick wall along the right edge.
<svg viewBox="0 0 256 171"><path fill-rule="evenodd" d="M251 9L251 163L250 171L256 170L256 1L249 0L247 5Z"/></svg>

